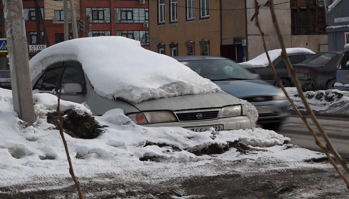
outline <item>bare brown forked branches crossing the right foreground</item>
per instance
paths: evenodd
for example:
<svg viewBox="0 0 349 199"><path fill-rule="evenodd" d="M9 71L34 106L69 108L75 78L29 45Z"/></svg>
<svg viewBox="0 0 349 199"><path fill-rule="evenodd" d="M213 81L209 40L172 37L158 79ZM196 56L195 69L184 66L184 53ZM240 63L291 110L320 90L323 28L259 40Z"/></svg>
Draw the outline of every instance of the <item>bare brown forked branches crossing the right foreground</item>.
<svg viewBox="0 0 349 199"><path fill-rule="evenodd" d="M270 2L269 2L269 4L271 4L271 5L273 5L273 3L274 3L273 1L270 1ZM273 63L272 63L272 61L271 61L271 59L270 59L270 57L269 57L268 49L267 49L267 46L266 46L266 40L265 40L264 33L263 33L262 29L261 29L261 26L260 26L260 23L259 23L259 18L258 18L259 8L260 8L260 7L265 7L265 6L267 6L267 5L268 5L268 2L266 3L266 5L259 5L259 3L257 2L257 0L255 0L255 14L253 15L251 21L253 21L254 18L256 19L257 27L258 27L258 29L259 29L259 31L260 31L260 33L261 33L261 36L262 36L263 47L264 47L264 50L265 50L265 52L266 52L266 55L267 55L267 58L268 58L268 61L269 61L269 66L272 68L273 76L274 76L276 82L279 84L279 86L280 86L280 88L282 89L282 91L284 92L284 94L285 94L285 96L287 97L288 101L291 103L292 108L296 111L297 116L300 117L300 119L303 120L303 122L304 122L304 124L306 125L307 129L308 129L308 130L310 131L310 133L313 135L313 137L314 137L314 139L315 139L315 143L316 143L316 144L319 146L319 148L326 154L326 156L327 156L329 162L333 165L333 167L335 168L336 172L342 177L343 181L344 181L344 182L346 183L346 185L347 185L347 188L349 189L349 181L348 181L348 178L341 172L341 170L337 167L337 165L336 165L334 159L331 157L330 152L332 152L332 151L328 148L327 144L326 144L326 147L324 147L324 146L322 145L322 143L321 143L320 140L319 140L319 137L315 134L314 130L311 128L311 126L310 126L309 122L307 121L307 119L302 115L302 113L299 112L298 108L296 107L296 105L294 104L294 102L291 100L291 98L289 97L287 91L285 90L284 86L282 85L282 82L281 82L280 78L279 78L279 77L277 76L277 74L276 74L275 67L274 67L274 65L273 65ZM274 9L274 5L273 5L273 9ZM270 11L272 12L272 7L271 7L271 6L270 6ZM273 14L272 14L272 16L273 16ZM274 19L275 19L275 20L274 20ZM274 23L275 31L276 31L277 33L278 33L278 32L280 33L281 38L279 37L279 41L280 41L281 46L282 46L282 48L283 48L283 49L282 49L282 50L283 50L283 52L282 52L282 58L283 58L284 62L287 63L287 61L285 60L285 58L288 59L288 56L287 56L287 53L286 53L286 50L285 50L285 47L284 47L284 43L283 43L283 38L282 38L282 35L281 35L281 31L280 31L280 29L279 29L279 26L276 26L276 25L275 25L275 23L277 24L276 17L275 17L275 10L274 10L273 23ZM279 34L278 34L278 36L279 36ZM289 60L288 60L288 62L289 62ZM293 69L293 67L292 67L292 65L291 65L290 62L287 63L287 67L288 67L288 69L289 69L289 68L292 68L292 69ZM290 70L290 69L289 69L289 70ZM294 71L294 70L293 70L293 71ZM294 78L297 78L296 75L295 75L295 72L294 72L294 75L292 76L292 79L294 79ZM294 81L295 81L295 80L294 80ZM297 81L298 81L298 79L297 79ZM298 90L298 93L302 93L302 95L304 96L303 91L302 91L302 88L300 88L299 82L298 82L297 90ZM300 92L299 90L300 90L301 92ZM299 94L299 95L300 95L300 94ZM305 99L305 98L304 98L304 99ZM302 99L302 101L303 101L303 99ZM306 100L303 101L303 103L304 103L304 104L307 104L308 107L309 107L309 104L307 103ZM310 107L309 107L309 109L310 109ZM308 110L307 110L307 111L308 111ZM311 109L310 109L310 111L312 112ZM308 113L309 113L309 111L308 111ZM314 116L314 117L315 117L315 116ZM316 120L316 118L315 118L315 120ZM317 120L316 120L316 121L317 121ZM315 123L315 122L314 122L314 123ZM320 125L320 124L319 124L319 125ZM321 126L321 125L320 125L320 126ZM326 135L325 130L324 130L322 127L321 127L321 129L323 130L323 133ZM326 136L327 136L327 135L326 135ZM328 141L329 141L329 138L328 138ZM329 141L329 142L331 143L331 141ZM326 142L326 143L327 143L327 142ZM332 144L332 143L331 143L331 144ZM333 149L334 149L334 148L333 148ZM334 149L334 150L335 150L335 149ZM336 152L336 151L335 151L335 152ZM333 153L333 152L332 152L332 153ZM346 162L345 159L342 159L342 158L340 158L340 159L343 160L343 161L345 162L345 166L348 166L348 165L346 164L347 162ZM342 166L343 166L343 165L342 165ZM344 166L343 166L343 167L344 167Z"/></svg>

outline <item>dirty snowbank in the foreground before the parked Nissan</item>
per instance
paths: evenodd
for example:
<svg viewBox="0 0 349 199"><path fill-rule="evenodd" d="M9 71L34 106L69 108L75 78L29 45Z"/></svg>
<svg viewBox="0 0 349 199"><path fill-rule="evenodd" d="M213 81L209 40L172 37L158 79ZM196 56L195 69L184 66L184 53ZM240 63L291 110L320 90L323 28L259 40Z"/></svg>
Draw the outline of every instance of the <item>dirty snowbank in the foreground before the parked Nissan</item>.
<svg viewBox="0 0 349 199"><path fill-rule="evenodd" d="M44 186L43 182L59 184L59 179L69 179L59 131L46 116L55 112L57 97L42 93L33 98L37 121L28 126L13 111L11 91L0 89L1 187L35 182ZM61 111L68 109L91 116L82 104L62 101ZM251 170L329 167L307 162L324 154L287 144L289 138L260 128L201 133L183 128L149 128L135 125L120 109L96 120L104 127L95 139L65 134L78 177L103 174L154 182ZM237 160L242 162L235 163Z"/></svg>

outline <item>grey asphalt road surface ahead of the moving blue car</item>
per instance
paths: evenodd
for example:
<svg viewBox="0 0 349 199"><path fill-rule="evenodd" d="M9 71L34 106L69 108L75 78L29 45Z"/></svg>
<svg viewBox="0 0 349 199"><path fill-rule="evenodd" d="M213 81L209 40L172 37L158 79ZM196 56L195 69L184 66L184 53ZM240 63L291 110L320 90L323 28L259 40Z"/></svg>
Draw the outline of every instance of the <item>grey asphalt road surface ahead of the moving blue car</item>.
<svg viewBox="0 0 349 199"><path fill-rule="evenodd" d="M326 115L317 116L317 118L320 124L325 128L328 137L331 139L332 143L334 143L340 155L349 158L349 117ZM308 121L311 120L308 119ZM317 135L321 137L317 128L313 125L313 122L310 123ZM303 121L295 115L291 115L277 133L291 138L292 144L313 151L321 151L315 144L313 136L307 130ZM324 143L322 138L320 140Z"/></svg>

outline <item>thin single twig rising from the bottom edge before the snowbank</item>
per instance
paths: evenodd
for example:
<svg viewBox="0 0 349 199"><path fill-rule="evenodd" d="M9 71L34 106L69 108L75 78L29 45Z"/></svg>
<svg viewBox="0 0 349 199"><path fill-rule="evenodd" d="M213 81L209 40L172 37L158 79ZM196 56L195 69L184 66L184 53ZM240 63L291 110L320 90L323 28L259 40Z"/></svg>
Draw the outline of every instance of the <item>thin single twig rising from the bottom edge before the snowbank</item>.
<svg viewBox="0 0 349 199"><path fill-rule="evenodd" d="M59 117L59 133L61 134L62 141L63 141L63 144L64 144L64 148L65 148L65 151L66 151L66 154L67 154L67 159L68 159L68 163L69 163L69 173L72 176L73 181L75 183L75 187L77 189L77 192L79 193L79 199L84 199L84 197L82 195L80 183L79 183L79 181L77 181L77 179L75 177L75 174L74 174L72 161L70 160L70 156L69 156L68 145L67 145L67 142L66 142L66 140L64 138L63 119L62 119L61 112L60 112L60 109L59 109L59 107L60 107L60 98L61 98L61 91L62 91L62 86L60 86L60 89L59 89L58 104L57 104L57 114L58 114L58 117Z"/></svg>

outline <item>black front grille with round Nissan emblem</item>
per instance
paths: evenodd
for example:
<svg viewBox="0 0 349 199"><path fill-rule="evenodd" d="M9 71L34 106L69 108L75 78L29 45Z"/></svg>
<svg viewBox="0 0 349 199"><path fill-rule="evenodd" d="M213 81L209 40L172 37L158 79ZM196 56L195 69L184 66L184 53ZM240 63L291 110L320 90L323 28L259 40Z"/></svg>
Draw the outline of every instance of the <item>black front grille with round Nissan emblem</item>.
<svg viewBox="0 0 349 199"><path fill-rule="evenodd" d="M189 113L176 113L179 121L213 120L218 118L219 111L202 111Z"/></svg>

